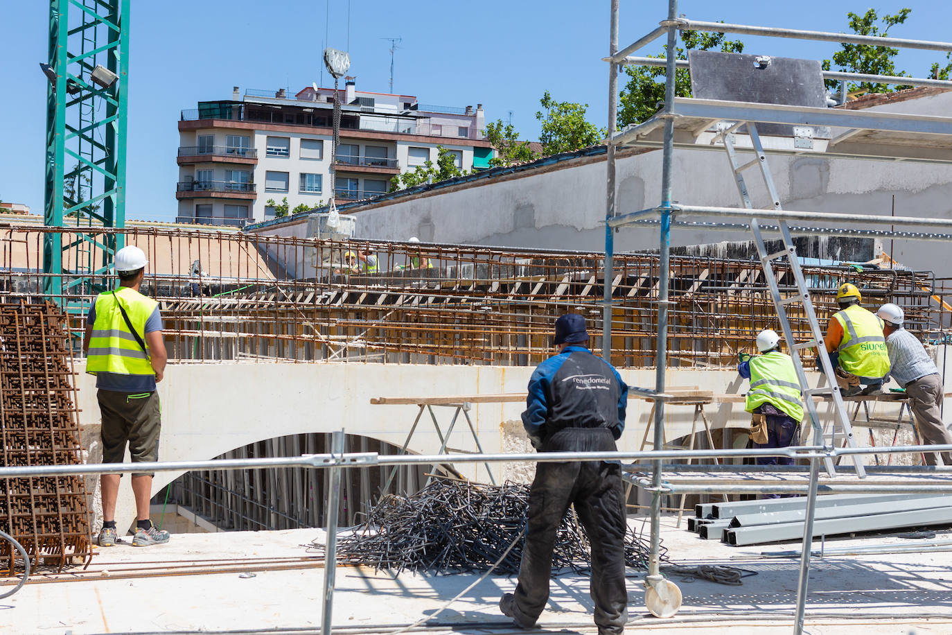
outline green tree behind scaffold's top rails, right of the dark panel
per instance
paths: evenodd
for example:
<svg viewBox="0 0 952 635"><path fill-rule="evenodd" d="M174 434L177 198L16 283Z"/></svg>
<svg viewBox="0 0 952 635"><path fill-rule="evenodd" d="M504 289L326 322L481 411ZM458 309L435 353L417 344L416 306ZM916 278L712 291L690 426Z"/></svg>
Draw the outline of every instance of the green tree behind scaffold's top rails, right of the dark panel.
<svg viewBox="0 0 952 635"><path fill-rule="evenodd" d="M880 20L876 10L866 10L863 15L858 15L852 11L846 13L849 18L849 29L857 35L878 35L885 37L889 30L896 25L905 22L909 17L911 9L901 9L895 15L888 13L883 15L883 28L876 24ZM823 60L823 70L829 70L833 64L841 72L862 72L873 75L896 75L899 77L908 77L904 70L896 70L895 57L899 54L899 49L890 47L874 47L868 44L843 44L843 49L833 53L833 62ZM948 67L946 67L947 69ZM939 65L932 67L935 73L940 72ZM947 72L947 70L946 70ZM826 80L826 88L839 90L840 81ZM857 90L863 92L893 92L895 90L907 89L908 86L890 86L889 84L874 84L872 82L849 83L846 89L850 92Z"/></svg>

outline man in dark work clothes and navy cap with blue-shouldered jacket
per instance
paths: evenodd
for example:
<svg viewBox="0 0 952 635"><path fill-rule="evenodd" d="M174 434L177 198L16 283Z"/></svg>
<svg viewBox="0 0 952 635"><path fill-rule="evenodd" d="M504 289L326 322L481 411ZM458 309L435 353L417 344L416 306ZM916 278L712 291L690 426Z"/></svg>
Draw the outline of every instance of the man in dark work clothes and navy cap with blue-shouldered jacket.
<svg viewBox="0 0 952 635"><path fill-rule="evenodd" d="M615 451L625 429L628 387L610 364L588 350L585 318L566 313L555 323L558 355L529 379L523 426L545 452ZM548 601L552 548L569 505L591 544L591 597L600 635L624 632L625 500L621 466L605 461L536 464L529 493L526 546L516 592L499 602L520 628L531 628Z"/></svg>

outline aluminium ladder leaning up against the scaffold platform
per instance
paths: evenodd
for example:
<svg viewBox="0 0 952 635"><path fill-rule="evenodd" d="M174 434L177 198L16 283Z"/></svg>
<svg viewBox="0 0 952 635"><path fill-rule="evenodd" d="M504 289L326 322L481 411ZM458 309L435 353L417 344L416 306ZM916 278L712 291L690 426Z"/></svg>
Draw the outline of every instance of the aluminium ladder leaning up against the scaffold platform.
<svg viewBox="0 0 952 635"><path fill-rule="evenodd" d="M731 132L735 129L739 129L742 124L746 125L747 133L750 135L750 142L756 153L756 157L745 164L741 164L738 161L737 152L734 149L733 139L731 138ZM764 146L761 143L760 134L754 123L724 122L719 124L718 127L721 129L719 137L724 142L724 149L727 151L727 158L730 160L730 166L734 172L737 189L741 194L741 201L744 207L748 209L754 208L750 202L750 194L744 182L744 170L757 165L761 169L761 175L764 178L764 185L770 195L773 209L781 210L780 197L774 186L773 176L770 174L770 169L766 163ZM715 139L717 139L717 137L715 137ZM780 324L783 328L783 339L786 341L787 348L790 351L790 357L793 359L793 367L796 369L797 378L800 381L800 388L803 392L803 405L806 407L810 423L813 425L813 443L816 446L836 447L837 439L842 438L845 446L856 447L856 440L853 438L853 428L849 423L849 415L846 411L846 405L843 402L843 395L836 381L833 366L830 364L829 357L825 354L823 331L820 328L820 322L817 320L813 302L810 300L810 292L806 286L806 280L803 277L803 269L800 267L800 261L797 259L797 248L790 235L790 228L787 227L786 221L783 219L778 219L777 225L783 240L783 248L774 253L770 253L764 244L764 236L761 232L758 219L750 219L750 231L754 235L754 243L757 245L757 251L761 256L761 264L764 267L764 277L766 278L767 286L770 288L770 296L773 298L774 307L777 308L777 317L780 319ZM786 297L781 296L780 286L772 264L774 261L781 261L782 259L786 259L790 271L793 273L797 287L796 294ZM806 320L810 325L811 339L805 342L794 341L793 329L790 327L790 320L787 317L786 308L796 304L803 307L803 313L806 315ZM826 378L825 387L810 387L806 379L806 372L803 370L803 363L800 360L800 351L803 350L803 348L812 347L817 348L817 355L821 362L823 376ZM833 407L833 421L828 434L823 431L823 423L817 412L816 401L813 399L815 395L829 396L830 398L830 403ZM857 476L864 478L866 472L863 468L863 459L859 455L854 455L853 463L856 466ZM832 458L827 457L824 459L824 466L831 476L835 474L835 466Z"/></svg>

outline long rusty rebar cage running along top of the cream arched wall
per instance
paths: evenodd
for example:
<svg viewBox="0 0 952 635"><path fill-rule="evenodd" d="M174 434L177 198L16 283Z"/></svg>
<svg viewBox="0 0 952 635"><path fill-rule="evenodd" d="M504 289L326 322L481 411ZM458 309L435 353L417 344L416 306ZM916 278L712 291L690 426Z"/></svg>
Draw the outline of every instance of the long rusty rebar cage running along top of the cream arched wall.
<svg viewBox="0 0 952 635"><path fill-rule="evenodd" d="M533 366L551 354L552 325L565 311L585 315L592 347L603 347L600 253L210 229L0 228L0 295L52 297L69 308L77 335L95 294L115 281L103 258L90 274L71 251L62 274L44 276L44 245L54 235L63 245L102 245L115 235L146 251L143 292L160 303L172 362ZM347 266L359 252L376 258L375 270ZM948 288L930 271L832 264L803 271L824 324L836 310L836 288L851 282L865 306L895 302L923 341L945 339ZM794 293L790 269L778 263L775 273L782 292ZM761 329L780 329L757 260L675 255L669 275L672 367L731 366L739 351L752 352ZM48 290L54 278L58 294ZM614 257L618 366L654 365L660 278L656 254ZM809 339L803 311L789 311L798 341ZM809 363L815 353L801 354Z"/></svg>

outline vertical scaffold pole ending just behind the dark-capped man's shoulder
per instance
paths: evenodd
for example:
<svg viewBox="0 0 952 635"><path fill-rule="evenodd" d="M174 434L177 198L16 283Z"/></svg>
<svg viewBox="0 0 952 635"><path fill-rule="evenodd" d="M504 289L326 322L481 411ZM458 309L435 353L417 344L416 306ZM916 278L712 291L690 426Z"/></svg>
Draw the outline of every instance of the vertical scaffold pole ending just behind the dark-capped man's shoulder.
<svg viewBox="0 0 952 635"><path fill-rule="evenodd" d="M608 28L608 51L611 55L618 52L618 5L619 0L611 0L611 16ZM618 65L608 65L608 130L609 134L618 128ZM614 229L607 221L615 215L615 145L608 144L605 152L605 283L604 306L602 307L602 357L611 364L611 296L612 281L615 278Z"/></svg>

